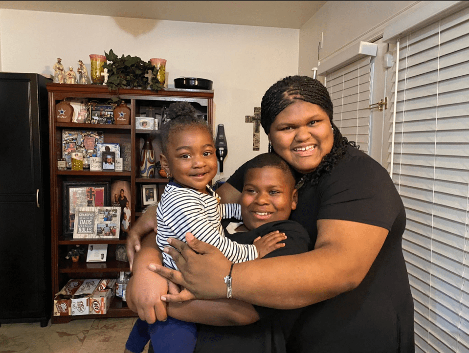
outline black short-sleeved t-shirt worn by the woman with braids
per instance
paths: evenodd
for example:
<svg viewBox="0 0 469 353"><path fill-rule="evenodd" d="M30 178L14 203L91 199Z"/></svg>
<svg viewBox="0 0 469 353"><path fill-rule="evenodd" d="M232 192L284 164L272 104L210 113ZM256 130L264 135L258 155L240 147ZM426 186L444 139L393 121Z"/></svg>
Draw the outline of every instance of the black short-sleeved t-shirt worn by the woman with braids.
<svg viewBox="0 0 469 353"><path fill-rule="evenodd" d="M227 182L242 190L244 167ZM317 238L316 221L346 220L380 226L389 234L367 275L352 291L305 308L291 332L288 352L415 352L413 299L402 255L405 209L387 171L352 146L313 187L299 193L291 220Z"/></svg>

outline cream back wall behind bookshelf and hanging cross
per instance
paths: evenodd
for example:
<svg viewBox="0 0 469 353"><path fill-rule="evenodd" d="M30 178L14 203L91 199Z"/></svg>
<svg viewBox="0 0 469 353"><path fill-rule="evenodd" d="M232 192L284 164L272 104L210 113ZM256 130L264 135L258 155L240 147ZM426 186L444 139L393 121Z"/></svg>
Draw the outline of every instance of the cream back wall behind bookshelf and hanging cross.
<svg viewBox="0 0 469 353"><path fill-rule="evenodd" d="M180 76L214 82L214 126L224 124L228 156L221 177L259 152L252 151L252 123L267 88L298 72L299 30L0 10L0 70L53 74L57 57L66 67L110 49L144 61L163 58L166 80ZM268 140L261 132L261 153ZM220 176L217 176L216 181Z"/></svg>

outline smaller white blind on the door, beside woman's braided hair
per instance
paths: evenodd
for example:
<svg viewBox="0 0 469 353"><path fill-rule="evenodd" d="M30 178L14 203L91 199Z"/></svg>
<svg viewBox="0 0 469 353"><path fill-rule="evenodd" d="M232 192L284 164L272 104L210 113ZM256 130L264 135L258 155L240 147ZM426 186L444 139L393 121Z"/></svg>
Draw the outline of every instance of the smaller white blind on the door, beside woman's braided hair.
<svg viewBox="0 0 469 353"><path fill-rule="evenodd" d="M374 60L366 56L329 73L325 85L334 105L334 123L349 141L369 154L371 82Z"/></svg>

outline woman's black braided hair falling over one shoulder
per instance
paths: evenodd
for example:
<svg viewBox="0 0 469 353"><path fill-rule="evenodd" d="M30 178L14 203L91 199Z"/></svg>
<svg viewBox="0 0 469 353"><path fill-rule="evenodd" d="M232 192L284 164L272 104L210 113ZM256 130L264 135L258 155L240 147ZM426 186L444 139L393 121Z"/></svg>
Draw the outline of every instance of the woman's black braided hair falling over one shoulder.
<svg viewBox="0 0 469 353"><path fill-rule="evenodd" d="M356 148L359 146L342 136L333 123L333 104L327 88L308 76L288 76L273 84L264 94L261 102L261 125L267 134L270 132L270 127L277 115L297 100L321 107L329 117L334 129L334 144L331 152L322 158L321 163L313 172L305 176L305 183L317 185L320 177L331 173L337 161L344 156L347 145L350 144Z"/></svg>

